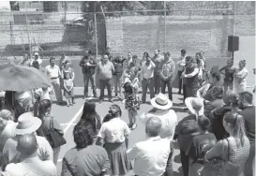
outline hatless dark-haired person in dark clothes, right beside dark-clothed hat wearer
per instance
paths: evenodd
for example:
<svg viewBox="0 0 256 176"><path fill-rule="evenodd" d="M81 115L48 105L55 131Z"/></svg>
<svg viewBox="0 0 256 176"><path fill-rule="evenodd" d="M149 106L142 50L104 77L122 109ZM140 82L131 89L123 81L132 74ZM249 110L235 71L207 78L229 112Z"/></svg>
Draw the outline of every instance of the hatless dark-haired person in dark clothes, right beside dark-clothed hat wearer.
<svg viewBox="0 0 256 176"><path fill-rule="evenodd" d="M189 176L200 176L203 169L203 157L204 154L211 150L217 142L213 133L208 132L210 127L210 120L207 118L199 118L199 135L195 136L192 140L191 147L189 149Z"/></svg>

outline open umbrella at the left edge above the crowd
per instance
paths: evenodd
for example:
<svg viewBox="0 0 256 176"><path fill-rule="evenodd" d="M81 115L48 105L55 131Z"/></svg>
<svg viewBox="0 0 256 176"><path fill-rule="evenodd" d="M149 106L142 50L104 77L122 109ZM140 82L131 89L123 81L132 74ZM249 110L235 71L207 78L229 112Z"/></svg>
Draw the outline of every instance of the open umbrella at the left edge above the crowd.
<svg viewBox="0 0 256 176"><path fill-rule="evenodd" d="M0 65L0 90L23 92L44 86L51 86L50 79L34 67Z"/></svg>

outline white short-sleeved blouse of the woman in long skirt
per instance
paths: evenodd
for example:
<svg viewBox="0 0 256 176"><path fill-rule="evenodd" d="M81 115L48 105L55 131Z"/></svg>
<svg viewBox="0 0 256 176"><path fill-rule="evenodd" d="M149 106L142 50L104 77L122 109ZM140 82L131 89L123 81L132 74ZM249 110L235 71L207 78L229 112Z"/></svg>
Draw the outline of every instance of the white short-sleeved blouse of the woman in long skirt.
<svg viewBox="0 0 256 176"><path fill-rule="evenodd" d="M116 117L109 122L103 123L98 132L98 137L106 139L109 143L124 142L125 136L130 133L125 121Z"/></svg>

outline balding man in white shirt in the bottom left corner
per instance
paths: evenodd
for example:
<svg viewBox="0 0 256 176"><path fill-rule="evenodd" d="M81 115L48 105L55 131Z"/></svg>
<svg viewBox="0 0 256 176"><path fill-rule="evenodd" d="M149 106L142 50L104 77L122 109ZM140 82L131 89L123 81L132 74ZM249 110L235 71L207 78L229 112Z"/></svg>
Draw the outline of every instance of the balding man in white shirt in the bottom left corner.
<svg viewBox="0 0 256 176"><path fill-rule="evenodd" d="M47 175L57 174L53 161L42 161L38 157L38 141L35 135L25 134L18 139L17 151L20 153L20 163L10 163L2 175Z"/></svg>

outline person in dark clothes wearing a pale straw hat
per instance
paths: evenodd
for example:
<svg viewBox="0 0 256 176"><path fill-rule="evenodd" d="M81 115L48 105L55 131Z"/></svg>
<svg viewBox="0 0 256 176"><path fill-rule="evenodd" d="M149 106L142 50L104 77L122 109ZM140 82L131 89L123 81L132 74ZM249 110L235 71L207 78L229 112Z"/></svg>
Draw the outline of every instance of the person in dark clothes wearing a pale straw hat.
<svg viewBox="0 0 256 176"><path fill-rule="evenodd" d="M192 139L201 134L198 125L199 118L205 118L203 115L203 99L199 97L188 97L185 100L188 110L191 112L182 119L175 128L174 139L177 139L180 148L180 158L184 176L188 176L189 168L189 146Z"/></svg>

